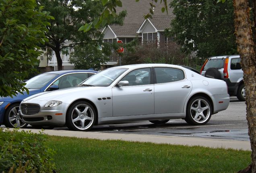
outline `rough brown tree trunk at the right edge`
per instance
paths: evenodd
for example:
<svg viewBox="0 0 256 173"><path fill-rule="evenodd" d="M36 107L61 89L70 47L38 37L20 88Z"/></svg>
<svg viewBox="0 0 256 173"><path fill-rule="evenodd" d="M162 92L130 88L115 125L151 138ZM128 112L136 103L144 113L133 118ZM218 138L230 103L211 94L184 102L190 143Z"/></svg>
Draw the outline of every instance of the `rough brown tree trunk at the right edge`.
<svg viewBox="0 0 256 173"><path fill-rule="evenodd" d="M248 0L233 0L235 8L235 35L237 50L241 56L246 88L246 119L248 121L249 137L252 149L252 164L241 173L256 172L256 57L255 44L250 21ZM253 29L255 27L253 26ZM251 166L251 169L250 169Z"/></svg>

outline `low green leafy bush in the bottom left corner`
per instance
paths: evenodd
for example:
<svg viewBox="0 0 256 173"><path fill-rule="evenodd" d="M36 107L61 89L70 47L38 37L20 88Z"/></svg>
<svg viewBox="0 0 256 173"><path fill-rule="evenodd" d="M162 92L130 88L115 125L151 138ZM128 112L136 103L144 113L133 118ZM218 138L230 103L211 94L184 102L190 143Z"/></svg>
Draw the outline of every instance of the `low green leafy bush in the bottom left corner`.
<svg viewBox="0 0 256 173"><path fill-rule="evenodd" d="M52 172L55 169L52 159L55 152L46 147L46 138L43 132L37 134L0 128L0 172L8 172L13 165L13 169L17 169L26 163L26 172Z"/></svg>

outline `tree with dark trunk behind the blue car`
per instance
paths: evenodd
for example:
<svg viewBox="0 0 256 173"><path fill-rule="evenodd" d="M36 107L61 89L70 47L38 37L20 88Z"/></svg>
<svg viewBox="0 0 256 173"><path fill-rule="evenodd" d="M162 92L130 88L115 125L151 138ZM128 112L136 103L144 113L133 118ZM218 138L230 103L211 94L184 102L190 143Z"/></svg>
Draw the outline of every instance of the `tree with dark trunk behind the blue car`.
<svg viewBox="0 0 256 173"><path fill-rule="evenodd" d="M78 32L85 22L99 18L103 10L101 2L97 0L37 0L37 3L45 6L45 10L54 16L45 34L49 39L45 46L55 52L58 70L62 70L61 50L79 44L91 44L97 47L102 43L100 30L91 28L88 32ZM122 24L125 15L125 12L116 15L115 20L111 22Z"/></svg>

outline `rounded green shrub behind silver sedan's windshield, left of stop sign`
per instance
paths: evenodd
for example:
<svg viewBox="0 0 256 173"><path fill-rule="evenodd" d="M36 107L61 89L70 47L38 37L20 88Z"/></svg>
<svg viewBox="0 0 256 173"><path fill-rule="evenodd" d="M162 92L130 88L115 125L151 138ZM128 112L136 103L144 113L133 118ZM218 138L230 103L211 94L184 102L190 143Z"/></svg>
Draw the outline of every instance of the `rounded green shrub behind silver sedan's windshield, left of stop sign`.
<svg viewBox="0 0 256 173"><path fill-rule="evenodd" d="M74 52L70 54L70 63L74 64L75 69L100 70L101 64L108 61L108 57L103 51L91 44L78 45L74 47Z"/></svg>

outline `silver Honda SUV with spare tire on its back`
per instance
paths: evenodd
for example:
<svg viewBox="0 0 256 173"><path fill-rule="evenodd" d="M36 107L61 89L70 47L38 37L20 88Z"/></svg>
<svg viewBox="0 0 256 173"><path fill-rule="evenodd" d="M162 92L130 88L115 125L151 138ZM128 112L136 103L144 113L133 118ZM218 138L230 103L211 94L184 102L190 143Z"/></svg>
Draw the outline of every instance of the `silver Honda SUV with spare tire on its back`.
<svg viewBox="0 0 256 173"><path fill-rule="evenodd" d="M212 56L204 62L200 74L225 80L229 95L236 96L239 101L245 101L244 72L240 61L239 55Z"/></svg>

